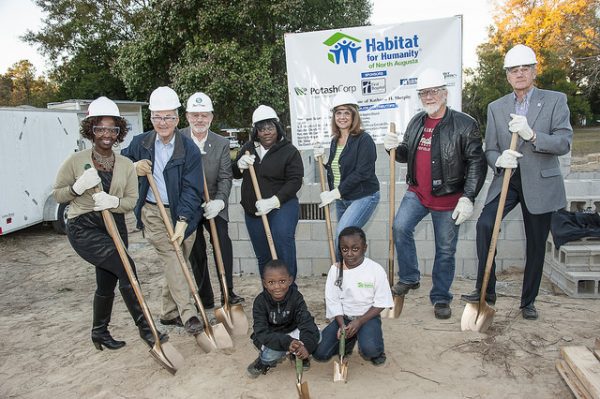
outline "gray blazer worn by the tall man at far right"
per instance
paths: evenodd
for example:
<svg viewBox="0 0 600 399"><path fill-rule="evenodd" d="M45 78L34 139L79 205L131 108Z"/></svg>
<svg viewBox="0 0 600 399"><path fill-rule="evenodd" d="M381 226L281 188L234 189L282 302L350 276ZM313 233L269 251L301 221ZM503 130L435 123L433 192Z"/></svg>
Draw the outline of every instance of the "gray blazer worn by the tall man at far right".
<svg viewBox="0 0 600 399"><path fill-rule="evenodd" d="M565 185L560 172L559 155L571 150L573 129L569 122L567 96L563 93L533 88L527 122L536 134L535 144L519 138L519 159L523 197L529 212L541 214L562 209L567 205ZM494 171L485 203L492 201L502 188L502 169L495 167L502 151L510 148L508 130L510 114L515 113L514 94L490 103L485 132L485 155Z"/></svg>

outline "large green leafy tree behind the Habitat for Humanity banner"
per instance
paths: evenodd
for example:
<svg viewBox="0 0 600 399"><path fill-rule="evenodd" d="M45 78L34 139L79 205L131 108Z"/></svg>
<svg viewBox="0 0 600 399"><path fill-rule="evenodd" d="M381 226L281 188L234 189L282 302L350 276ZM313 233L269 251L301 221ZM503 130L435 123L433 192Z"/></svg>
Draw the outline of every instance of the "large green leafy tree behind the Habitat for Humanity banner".
<svg viewBox="0 0 600 399"><path fill-rule="evenodd" d="M246 126L265 103L287 124L285 33L365 25L370 12L368 0L157 1L117 71L137 98L169 84L209 94L218 122Z"/></svg>

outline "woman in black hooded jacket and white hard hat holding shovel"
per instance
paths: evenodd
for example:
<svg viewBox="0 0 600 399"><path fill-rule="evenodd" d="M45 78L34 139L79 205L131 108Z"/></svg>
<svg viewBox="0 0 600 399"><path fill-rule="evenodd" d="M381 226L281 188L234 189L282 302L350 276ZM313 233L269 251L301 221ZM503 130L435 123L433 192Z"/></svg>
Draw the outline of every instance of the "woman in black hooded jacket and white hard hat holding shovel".
<svg viewBox="0 0 600 399"><path fill-rule="evenodd" d="M264 265L271 260L261 221L267 215L277 256L296 278L296 226L300 205L296 194L302 187L304 166L300 153L285 137L273 108L259 106L252 114L252 133L233 163L233 176L242 178L242 200L246 227L256 253L262 277ZM246 154L249 152L250 154ZM254 165L263 199L256 199L248 168Z"/></svg>

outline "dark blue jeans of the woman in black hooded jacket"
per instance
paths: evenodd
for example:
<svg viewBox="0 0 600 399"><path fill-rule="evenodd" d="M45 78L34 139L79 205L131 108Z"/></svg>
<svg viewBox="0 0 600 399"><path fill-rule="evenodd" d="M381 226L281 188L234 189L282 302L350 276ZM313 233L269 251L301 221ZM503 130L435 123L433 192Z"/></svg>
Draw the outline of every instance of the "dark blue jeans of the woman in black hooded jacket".
<svg viewBox="0 0 600 399"><path fill-rule="evenodd" d="M298 198L281 204L281 208L273 209L267 214L269 227L275 243L277 257L288 267L290 275L296 279L296 226L300 214ZM271 251L265 235L262 218L245 214L246 228L258 261L258 270L262 278L263 268L271 260Z"/></svg>

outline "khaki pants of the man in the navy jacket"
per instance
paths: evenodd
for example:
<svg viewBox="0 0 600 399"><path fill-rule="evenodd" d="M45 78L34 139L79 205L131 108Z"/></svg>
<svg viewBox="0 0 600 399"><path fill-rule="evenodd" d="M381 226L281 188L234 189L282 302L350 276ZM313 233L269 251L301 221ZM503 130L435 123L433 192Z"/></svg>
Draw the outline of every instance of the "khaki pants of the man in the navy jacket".
<svg viewBox="0 0 600 399"><path fill-rule="evenodd" d="M170 210L167 208L166 211L170 218ZM146 203L142 207L142 222L144 223L146 239L156 249L156 253L164 267L162 312L160 318L171 320L179 314L181 321L185 324L192 316L198 317L198 313L189 286L177 260L175 248L169 240L167 228L160 216L158 206ZM186 264L195 239L196 233L193 233L183 241L182 250Z"/></svg>

